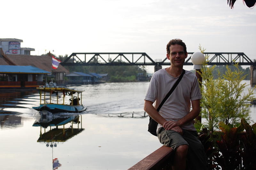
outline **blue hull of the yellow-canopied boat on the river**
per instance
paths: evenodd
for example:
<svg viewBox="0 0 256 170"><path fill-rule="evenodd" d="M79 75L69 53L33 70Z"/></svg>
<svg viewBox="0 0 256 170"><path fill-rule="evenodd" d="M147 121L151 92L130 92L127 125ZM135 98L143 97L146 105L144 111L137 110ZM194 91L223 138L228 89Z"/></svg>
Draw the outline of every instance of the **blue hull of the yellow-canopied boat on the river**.
<svg viewBox="0 0 256 170"><path fill-rule="evenodd" d="M80 113L86 110L83 105L65 105L65 104L40 104L39 107L33 107L37 111L46 110L51 113L68 112Z"/></svg>

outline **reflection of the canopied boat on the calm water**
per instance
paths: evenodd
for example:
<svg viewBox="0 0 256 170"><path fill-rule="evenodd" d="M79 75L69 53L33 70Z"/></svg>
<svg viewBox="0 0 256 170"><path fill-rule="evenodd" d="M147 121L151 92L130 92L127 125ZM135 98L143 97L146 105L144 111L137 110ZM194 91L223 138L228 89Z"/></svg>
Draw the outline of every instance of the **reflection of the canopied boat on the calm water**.
<svg viewBox="0 0 256 170"><path fill-rule="evenodd" d="M81 122L79 120L80 116ZM82 128L82 115L80 116L41 116L40 119L36 120L33 124L34 127L40 127L40 137L37 142L65 142L73 136L79 134L84 130L84 128ZM65 125L68 123L70 125L68 128L65 128ZM50 130L46 132L46 128L48 127L50 127ZM44 129L43 133L42 129Z"/></svg>

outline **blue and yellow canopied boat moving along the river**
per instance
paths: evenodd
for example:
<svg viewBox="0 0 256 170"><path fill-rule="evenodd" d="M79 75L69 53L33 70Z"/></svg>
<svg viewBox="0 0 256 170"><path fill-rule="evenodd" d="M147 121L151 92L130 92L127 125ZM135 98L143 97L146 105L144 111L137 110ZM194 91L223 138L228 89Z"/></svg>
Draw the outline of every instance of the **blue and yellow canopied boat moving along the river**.
<svg viewBox="0 0 256 170"><path fill-rule="evenodd" d="M70 112L70 113L79 113L86 110L86 107L82 104L82 92L84 90L69 89L63 86L57 86L56 83L50 82L46 86L39 86L36 89L39 89L40 93L40 105L38 107L33 107L33 109L39 111L40 115L49 115L51 113L58 112ZM50 103L46 103L45 96L49 93ZM57 101L52 103L52 95L56 94ZM65 104L65 97L68 95L70 97L70 104ZM81 98L79 98L79 96ZM56 98L55 97L55 98ZM59 101L59 97L62 97L62 100ZM81 101L80 101L81 100Z"/></svg>

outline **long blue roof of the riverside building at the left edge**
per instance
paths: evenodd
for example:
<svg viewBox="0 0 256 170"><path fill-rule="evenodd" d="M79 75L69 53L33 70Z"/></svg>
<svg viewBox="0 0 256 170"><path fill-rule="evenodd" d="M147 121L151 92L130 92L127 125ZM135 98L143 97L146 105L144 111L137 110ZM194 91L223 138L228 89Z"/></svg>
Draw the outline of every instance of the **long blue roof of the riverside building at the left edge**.
<svg viewBox="0 0 256 170"><path fill-rule="evenodd" d="M33 66L10 66L10 65L1 65L0 73L45 73L48 74L45 70L42 70Z"/></svg>

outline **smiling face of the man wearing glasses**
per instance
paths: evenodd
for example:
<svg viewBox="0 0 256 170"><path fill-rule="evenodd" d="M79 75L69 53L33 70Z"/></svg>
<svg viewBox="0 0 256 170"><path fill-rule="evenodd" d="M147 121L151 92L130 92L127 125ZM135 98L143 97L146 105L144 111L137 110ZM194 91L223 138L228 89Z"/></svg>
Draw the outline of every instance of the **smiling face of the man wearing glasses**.
<svg viewBox="0 0 256 170"><path fill-rule="evenodd" d="M170 54L167 54L166 57L170 60L171 66L183 66L188 53L184 52L184 48L181 45L175 44L170 46Z"/></svg>

